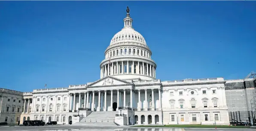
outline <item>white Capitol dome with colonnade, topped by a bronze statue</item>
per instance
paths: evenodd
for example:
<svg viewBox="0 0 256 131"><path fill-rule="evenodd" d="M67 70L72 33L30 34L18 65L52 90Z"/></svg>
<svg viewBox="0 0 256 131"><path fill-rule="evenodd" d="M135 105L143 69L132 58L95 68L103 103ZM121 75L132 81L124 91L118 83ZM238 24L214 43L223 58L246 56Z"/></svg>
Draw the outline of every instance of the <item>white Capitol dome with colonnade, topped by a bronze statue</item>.
<svg viewBox="0 0 256 131"><path fill-rule="evenodd" d="M113 76L119 79L155 79L156 64L144 37L132 27L129 8L124 27L114 35L101 61L101 78Z"/></svg>

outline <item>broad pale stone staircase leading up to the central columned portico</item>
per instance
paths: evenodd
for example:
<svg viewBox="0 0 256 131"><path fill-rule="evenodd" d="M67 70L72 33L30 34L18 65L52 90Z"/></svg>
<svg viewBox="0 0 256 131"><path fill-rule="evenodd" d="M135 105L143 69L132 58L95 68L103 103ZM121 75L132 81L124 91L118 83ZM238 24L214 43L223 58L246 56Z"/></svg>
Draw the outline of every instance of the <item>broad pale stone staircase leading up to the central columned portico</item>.
<svg viewBox="0 0 256 131"><path fill-rule="evenodd" d="M116 126L114 119L118 111L94 111L80 122L74 125L90 125L90 126Z"/></svg>

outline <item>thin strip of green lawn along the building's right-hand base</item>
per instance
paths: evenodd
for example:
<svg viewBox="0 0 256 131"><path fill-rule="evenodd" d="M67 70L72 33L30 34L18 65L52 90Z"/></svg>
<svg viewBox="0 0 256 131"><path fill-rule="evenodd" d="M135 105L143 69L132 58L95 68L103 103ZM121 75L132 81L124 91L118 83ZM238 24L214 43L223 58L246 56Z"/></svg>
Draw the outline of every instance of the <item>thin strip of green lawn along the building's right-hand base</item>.
<svg viewBox="0 0 256 131"><path fill-rule="evenodd" d="M165 127L165 128L215 128L215 125L137 125L134 127ZM250 128L248 126L216 125L217 128Z"/></svg>

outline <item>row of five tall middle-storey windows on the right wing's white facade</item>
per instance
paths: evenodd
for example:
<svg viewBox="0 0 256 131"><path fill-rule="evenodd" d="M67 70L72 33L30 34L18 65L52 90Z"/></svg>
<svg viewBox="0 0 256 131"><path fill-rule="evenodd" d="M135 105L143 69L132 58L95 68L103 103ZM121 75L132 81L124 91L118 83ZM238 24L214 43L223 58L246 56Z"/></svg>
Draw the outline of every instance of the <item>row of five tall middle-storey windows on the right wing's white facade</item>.
<svg viewBox="0 0 256 131"><path fill-rule="evenodd" d="M213 98L212 100L213 100L213 107L218 107L218 99L217 98ZM191 103L191 108L196 108L196 103L195 103L195 99L194 98L191 99L190 103ZM207 103L208 103L208 99L204 98L203 99L204 108L208 107ZM174 109L175 101L174 100L170 100L169 104L171 106L171 109ZM179 100L179 104L180 104L180 108L183 108L184 100Z"/></svg>

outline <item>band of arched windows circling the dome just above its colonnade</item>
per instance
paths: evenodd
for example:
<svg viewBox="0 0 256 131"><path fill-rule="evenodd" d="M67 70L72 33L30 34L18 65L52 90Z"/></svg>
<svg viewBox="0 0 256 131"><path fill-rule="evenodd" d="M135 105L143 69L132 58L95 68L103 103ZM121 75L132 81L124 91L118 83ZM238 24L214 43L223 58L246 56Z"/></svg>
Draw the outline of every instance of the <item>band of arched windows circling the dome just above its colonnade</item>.
<svg viewBox="0 0 256 131"><path fill-rule="evenodd" d="M137 52L136 52L136 49L133 49L133 52L131 49L129 49L129 51L127 52L127 49L125 48L124 49L124 52L123 52L123 49L120 49L120 52L119 50L114 50L113 52L110 51L108 52L108 54L106 55L106 58L110 58L112 56L116 56L116 55L140 55L140 56L144 56L144 57L147 57L147 58L150 58L150 53L147 52L146 50L140 50L140 49L137 49Z"/></svg>

